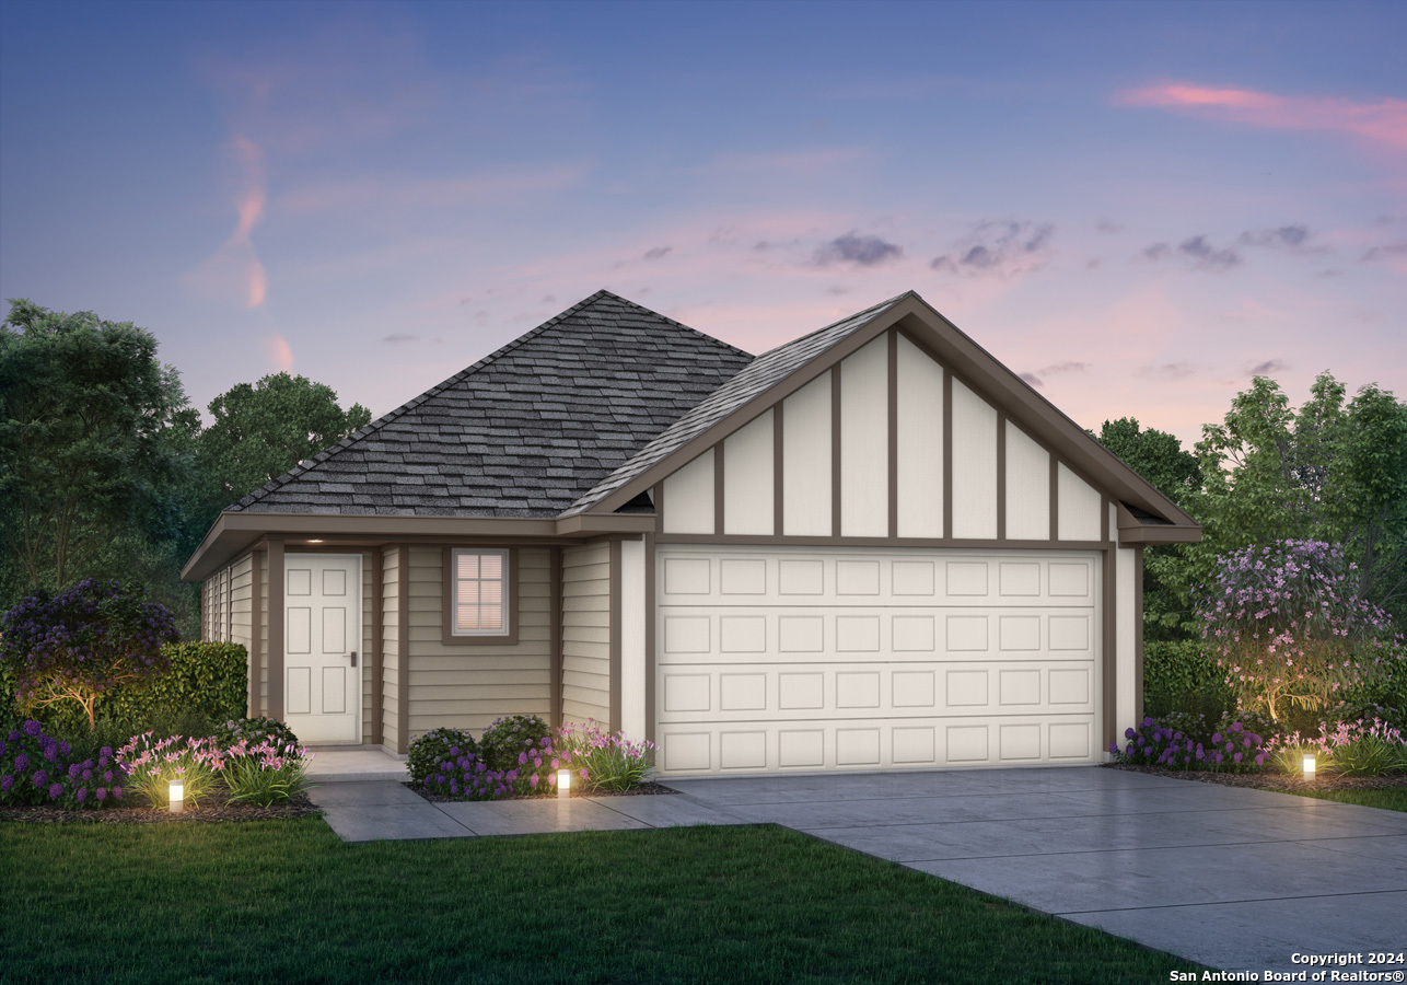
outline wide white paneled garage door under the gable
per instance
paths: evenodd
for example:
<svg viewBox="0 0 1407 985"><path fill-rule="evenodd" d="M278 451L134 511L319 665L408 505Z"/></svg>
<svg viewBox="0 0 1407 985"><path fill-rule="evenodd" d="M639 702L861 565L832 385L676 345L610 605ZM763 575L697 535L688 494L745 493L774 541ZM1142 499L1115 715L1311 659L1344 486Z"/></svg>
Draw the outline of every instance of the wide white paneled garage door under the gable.
<svg viewBox="0 0 1407 985"><path fill-rule="evenodd" d="M660 547L661 773L1093 763L1099 563Z"/></svg>

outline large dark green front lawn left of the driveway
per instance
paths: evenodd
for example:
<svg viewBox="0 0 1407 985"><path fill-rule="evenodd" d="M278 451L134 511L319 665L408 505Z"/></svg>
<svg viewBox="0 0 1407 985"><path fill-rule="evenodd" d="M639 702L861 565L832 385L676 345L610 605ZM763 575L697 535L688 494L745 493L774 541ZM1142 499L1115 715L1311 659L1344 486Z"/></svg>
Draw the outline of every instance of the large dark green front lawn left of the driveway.
<svg viewBox="0 0 1407 985"><path fill-rule="evenodd" d="M4 982L1166 982L1179 958L772 826L377 841L0 825Z"/></svg>

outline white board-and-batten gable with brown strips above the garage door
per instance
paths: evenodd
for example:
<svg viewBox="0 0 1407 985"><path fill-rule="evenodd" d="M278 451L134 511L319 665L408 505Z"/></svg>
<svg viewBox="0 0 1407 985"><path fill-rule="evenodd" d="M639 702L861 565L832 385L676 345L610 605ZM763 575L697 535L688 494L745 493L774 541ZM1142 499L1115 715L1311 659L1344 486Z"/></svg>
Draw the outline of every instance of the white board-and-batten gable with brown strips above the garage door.
<svg viewBox="0 0 1407 985"><path fill-rule="evenodd" d="M1103 545L1104 497L902 331L667 476L661 542L691 538Z"/></svg>

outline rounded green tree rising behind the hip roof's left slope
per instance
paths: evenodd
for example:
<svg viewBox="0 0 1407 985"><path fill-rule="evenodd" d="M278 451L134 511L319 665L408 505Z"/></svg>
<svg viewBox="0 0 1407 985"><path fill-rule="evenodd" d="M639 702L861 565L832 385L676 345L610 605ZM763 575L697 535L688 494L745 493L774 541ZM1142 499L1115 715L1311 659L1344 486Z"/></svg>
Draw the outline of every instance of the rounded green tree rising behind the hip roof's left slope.
<svg viewBox="0 0 1407 985"><path fill-rule="evenodd" d="M229 388L210 402L210 412L215 421L200 435L197 453L214 507L210 522L219 509L371 421L360 404L343 411L326 384L287 373Z"/></svg>

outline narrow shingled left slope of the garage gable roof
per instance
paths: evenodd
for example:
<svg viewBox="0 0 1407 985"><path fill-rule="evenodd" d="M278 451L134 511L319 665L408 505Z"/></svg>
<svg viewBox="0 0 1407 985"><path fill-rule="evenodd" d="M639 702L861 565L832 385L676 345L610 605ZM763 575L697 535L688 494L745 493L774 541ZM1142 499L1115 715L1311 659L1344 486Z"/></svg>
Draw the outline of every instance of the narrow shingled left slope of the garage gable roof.
<svg viewBox="0 0 1407 985"><path fill-rule="evenodd" d="M826 325L826 328L816 329L810 335L803 335L794 342L763 353L739 371L737 376L705 397L698 407L675 421L664 433L640 449L629 462L601 480L590 493L573 502L571 508L563 515L571 516L591 509L636 476L643 474L647 469L663 462L668 455L698 438L729 414L737 411L774 383L778 383L830 346L868 325L884 311L909 297L909 294L892 297L872 308L865 308L843 321Z"/></svg>

